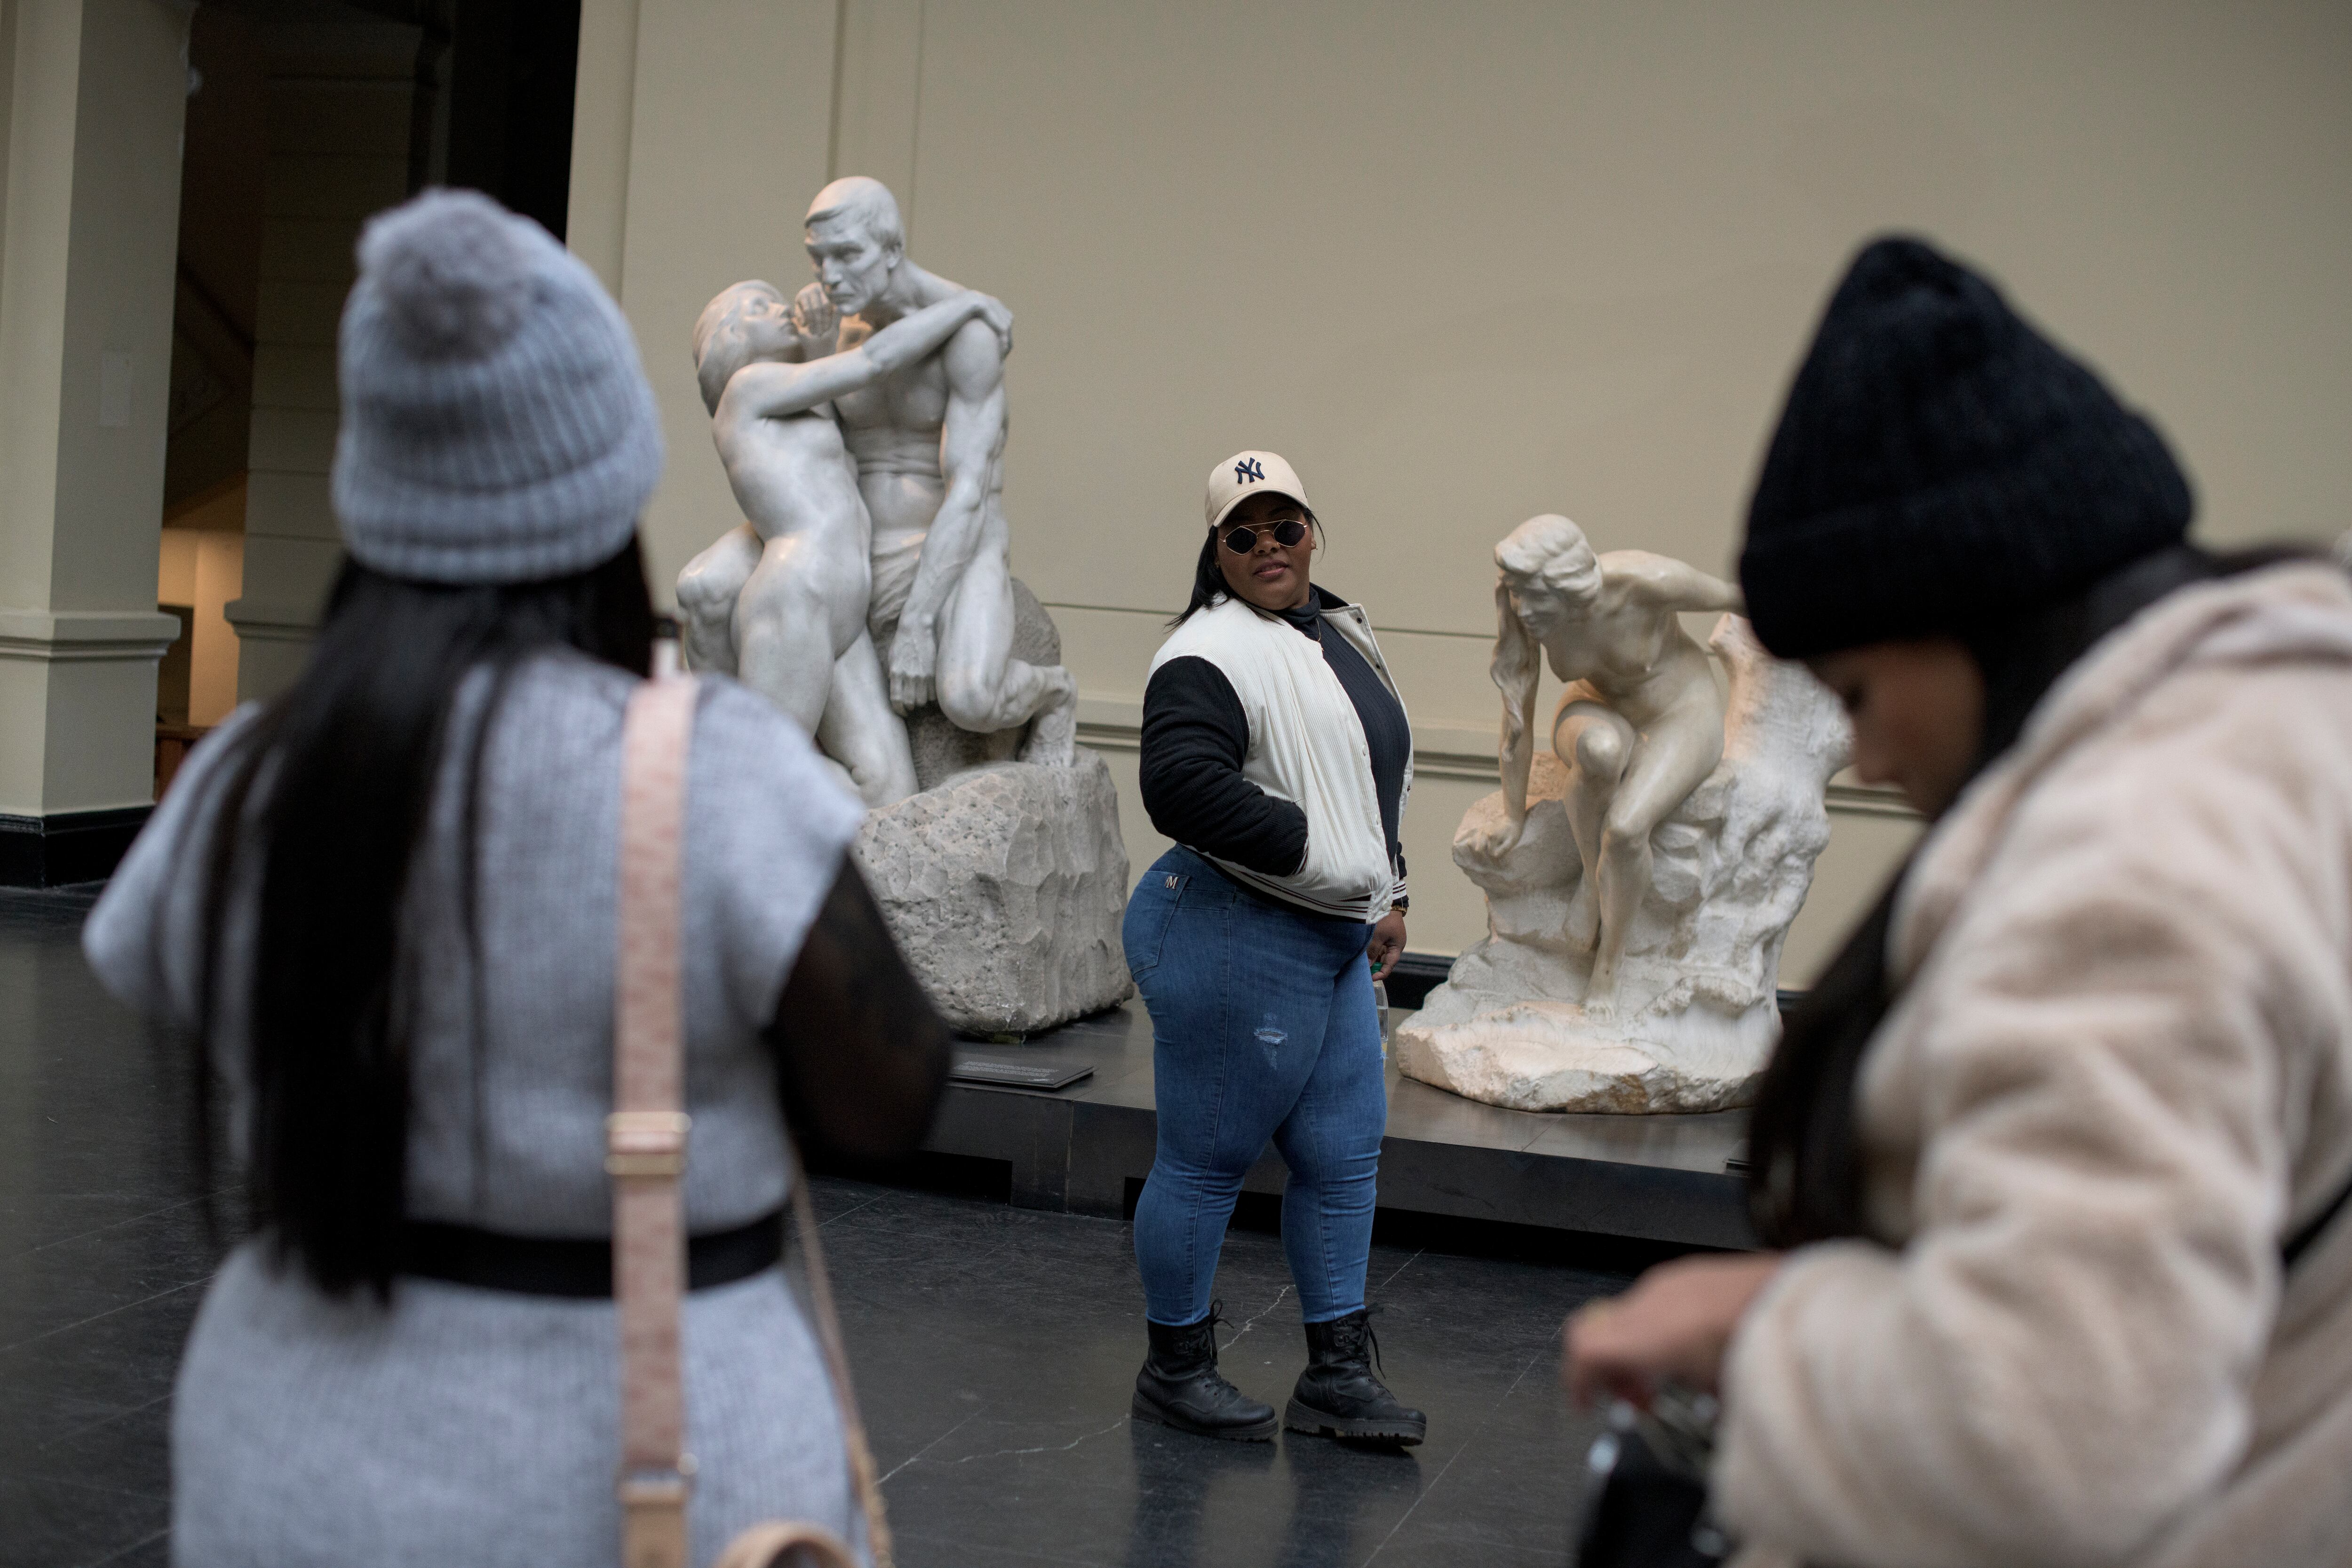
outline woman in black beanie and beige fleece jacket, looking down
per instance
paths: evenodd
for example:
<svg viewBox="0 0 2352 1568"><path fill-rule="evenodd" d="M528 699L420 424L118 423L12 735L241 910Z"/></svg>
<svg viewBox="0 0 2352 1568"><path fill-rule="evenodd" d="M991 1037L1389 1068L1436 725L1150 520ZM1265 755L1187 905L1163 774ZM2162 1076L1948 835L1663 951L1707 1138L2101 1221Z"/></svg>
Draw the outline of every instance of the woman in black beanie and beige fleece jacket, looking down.
<svg viewBox="0 0 2352 1568"><path fill-rule="evenodd" d="M2352 581L2183 543L2157 433L1863 252L1740 562L1936 818L1790 1020L1759 1229L1569 1324L1722 1392L1743 1568L2352 1561Z"/></svg>

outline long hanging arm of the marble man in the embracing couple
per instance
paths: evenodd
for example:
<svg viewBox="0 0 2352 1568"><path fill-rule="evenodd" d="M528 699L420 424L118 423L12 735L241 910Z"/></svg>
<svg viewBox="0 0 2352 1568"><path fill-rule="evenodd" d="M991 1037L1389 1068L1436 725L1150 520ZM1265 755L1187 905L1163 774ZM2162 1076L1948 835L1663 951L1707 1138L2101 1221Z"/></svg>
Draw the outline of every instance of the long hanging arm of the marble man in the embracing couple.
<svg viewBox="0 0 2352 1568"><path fill-rule="evenodd" d="M901 712L931 701L938 614L981 545L988 491L1004 449L1004 353L997 336L967 324L948 339L941 364L948 371L948 416L938 433L938 473L948 494L922 541L889 649L889 698Z"/></svg>

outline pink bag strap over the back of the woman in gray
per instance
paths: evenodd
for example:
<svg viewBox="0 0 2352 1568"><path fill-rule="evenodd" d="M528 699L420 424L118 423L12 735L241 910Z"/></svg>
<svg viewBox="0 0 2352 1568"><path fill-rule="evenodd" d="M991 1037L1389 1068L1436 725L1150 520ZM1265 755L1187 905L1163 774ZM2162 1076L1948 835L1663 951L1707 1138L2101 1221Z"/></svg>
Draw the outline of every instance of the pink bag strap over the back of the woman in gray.
<svg viewBox="0 0 2352 1568"><path fill-rule="evenodd" d="M637 686L621 724L619 961L604 1171L612 1173L612 1291L621 1309L621 1568L687 1568L687 1389L677 1324L684 1302L687 1166L684 999L680 994L680 867L684 863L687 750L696 686L666 675ZM816 1239L809 1180L793 1152L793 1225L809 1281L816 1340L840 1408L849 1479L866 1512L875 1568L891 1568L889 1521L833 1284ZM781 1413L779 1413L781 1415ZM764 1523L739 1535L722 1568L764 1568L800 1547L826 1568L854 1568L849 1547L807 1523Z"/></svg>

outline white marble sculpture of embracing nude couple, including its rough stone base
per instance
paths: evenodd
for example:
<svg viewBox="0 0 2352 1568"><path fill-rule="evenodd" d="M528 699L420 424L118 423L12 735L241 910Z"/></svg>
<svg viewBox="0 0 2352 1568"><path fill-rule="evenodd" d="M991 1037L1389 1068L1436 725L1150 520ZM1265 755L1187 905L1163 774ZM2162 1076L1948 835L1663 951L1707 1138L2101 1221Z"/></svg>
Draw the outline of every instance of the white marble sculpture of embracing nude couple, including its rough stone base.
<svg viewBox="0 0 2352 1568"><path fill-rule="evenodd" d="M816 282L739 282L694 327L746 522L677 578L687 654L771 698L868 804L856 853L941 1013L1025 1034L1134 992L1117 792L1011 576L1011 313L906 256L870 179L807 216Z"/></svg>

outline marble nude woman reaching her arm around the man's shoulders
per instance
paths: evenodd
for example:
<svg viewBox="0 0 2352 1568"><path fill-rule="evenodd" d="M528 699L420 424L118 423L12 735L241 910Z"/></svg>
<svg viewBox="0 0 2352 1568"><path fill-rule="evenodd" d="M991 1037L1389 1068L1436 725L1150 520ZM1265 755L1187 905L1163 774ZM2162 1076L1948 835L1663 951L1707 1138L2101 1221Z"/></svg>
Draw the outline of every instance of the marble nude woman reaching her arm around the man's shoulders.
<svg viewBox="0 0 2352 1568"><path fill-rule="evenodd" d="M913 795L915 759L866 630L870 524L830 400L938 353L969 322L1009 341L1004 306L955 294L821 353L764 282L734 284L694 324L710 435L746 522L677 578L689 654L795 717L868 806Z"/></svg>

